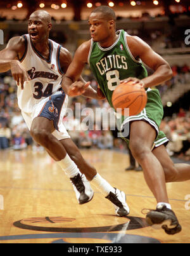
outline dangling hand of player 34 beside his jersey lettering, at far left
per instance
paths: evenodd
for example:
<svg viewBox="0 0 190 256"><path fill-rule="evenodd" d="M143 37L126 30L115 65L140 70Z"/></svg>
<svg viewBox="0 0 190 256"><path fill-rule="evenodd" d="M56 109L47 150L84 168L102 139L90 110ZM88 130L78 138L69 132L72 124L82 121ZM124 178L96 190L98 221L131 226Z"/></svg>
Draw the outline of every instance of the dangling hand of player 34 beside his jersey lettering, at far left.
<svg viewBox="0 0 190 256"><path fill-rule="evenodd" d="M21 86L23 90L23 84L25 81L29 81L30 77L28 76L27 71L24 69L22 64L18 60L11 62L11 73L13 78L16 81L17 86Z"/></svg>

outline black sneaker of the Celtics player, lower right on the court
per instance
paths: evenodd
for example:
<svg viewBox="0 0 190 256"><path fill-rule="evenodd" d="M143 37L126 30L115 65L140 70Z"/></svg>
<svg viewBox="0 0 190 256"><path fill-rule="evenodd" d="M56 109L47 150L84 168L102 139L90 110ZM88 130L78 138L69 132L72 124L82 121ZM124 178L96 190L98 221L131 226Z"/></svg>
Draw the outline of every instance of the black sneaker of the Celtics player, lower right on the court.
<svg viewBox="0 0 190 256"><path fill-rule="evenodd" d="M165 205L148 212L146 222L155 229L164 229L167 234L177 234L182 230L175 213Z"/></svg>

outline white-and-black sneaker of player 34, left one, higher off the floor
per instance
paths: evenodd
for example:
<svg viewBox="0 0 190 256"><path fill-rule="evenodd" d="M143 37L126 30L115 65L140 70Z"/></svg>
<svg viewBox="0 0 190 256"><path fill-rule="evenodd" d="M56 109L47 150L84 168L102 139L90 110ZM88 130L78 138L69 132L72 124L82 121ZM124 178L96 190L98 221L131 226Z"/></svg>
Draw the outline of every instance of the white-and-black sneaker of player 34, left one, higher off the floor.
<svg viewBox="0 0 190 256"><path fill-rule="evenodd" d="M76 193L77 200L80 205L91 201L94 196L94 191L91 189L89 181L86 179L85 175L80 173L73 178L70 178L74 191Z"/></svg>

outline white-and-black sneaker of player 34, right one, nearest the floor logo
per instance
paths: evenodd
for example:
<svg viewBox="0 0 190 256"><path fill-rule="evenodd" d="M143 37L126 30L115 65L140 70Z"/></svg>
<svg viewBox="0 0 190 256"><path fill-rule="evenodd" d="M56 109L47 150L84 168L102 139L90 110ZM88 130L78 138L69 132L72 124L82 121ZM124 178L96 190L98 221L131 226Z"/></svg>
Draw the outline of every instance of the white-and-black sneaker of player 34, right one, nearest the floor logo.
<svg viewBox="0 0 190 256"><path fill-rule="evenodd" d="M126 196L123 191L115 188L115 194L110 192L106 198L113 203L118 216L123 217L129 214L129 206L126 203Z"/></svg>

